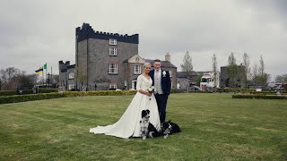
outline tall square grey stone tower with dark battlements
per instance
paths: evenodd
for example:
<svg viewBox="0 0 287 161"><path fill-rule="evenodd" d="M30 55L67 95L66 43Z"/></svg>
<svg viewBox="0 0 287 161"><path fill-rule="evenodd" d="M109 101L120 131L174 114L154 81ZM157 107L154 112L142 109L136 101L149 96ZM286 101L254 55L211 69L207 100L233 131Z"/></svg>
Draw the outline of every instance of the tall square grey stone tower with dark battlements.
<svg viewBox="0 0 287 161"><path fill-rule="evenodd" d="M123 89L124 61L138 55L139 35L94 31L89 23L75 29L76 84L78 89Z"/></svg>

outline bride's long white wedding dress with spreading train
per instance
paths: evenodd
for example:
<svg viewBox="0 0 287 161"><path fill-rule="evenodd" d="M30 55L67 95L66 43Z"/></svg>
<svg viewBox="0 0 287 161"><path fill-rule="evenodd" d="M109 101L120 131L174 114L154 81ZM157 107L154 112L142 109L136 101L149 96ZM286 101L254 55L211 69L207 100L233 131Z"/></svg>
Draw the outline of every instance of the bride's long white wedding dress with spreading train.
<svg viewBox="0 0 287 161"><path fill-rule="evenodd" d="M137 77L136 90L146 90L152 86L152 79L146 79L143 75ZM140 120L142 119L142 110L150 110L150 123L160 131L161 121L158 106L154 95L148 97L139 91L135 94L130 105L126 108L126 112L120 117L117 123L108 126L98 126L91 128L91 133L104 133L106 135L118 138L141 137Z"/></svg>

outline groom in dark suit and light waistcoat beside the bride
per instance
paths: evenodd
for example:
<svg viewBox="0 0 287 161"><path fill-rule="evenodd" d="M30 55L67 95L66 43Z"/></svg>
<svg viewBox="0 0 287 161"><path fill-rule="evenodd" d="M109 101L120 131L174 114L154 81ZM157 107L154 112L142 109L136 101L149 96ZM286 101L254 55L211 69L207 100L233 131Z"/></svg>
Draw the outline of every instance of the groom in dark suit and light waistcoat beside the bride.
<svg viewBox="0 0 287 161"><path fill-rule="evenodd" d="M165 122L168 97L170 95L170 72L161 70L161 60L155 59L154 69L150 72L152 86L155 88L154 97L156 99L161 123Z"/></svg>

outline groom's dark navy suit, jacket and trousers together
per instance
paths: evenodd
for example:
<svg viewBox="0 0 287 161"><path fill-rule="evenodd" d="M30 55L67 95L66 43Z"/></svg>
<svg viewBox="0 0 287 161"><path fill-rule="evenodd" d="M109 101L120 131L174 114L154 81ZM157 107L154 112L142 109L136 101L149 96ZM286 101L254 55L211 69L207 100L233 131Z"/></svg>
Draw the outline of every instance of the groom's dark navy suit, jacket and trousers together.
<svg viewBox="0 0 287 161"><path fill-rule="evenodd" d="M154 86L154 71L152 70L149 74L152 78L152 86ZM163 74L165 72L165 74ZM166 115L166 108L168 97L170 95L170 88L171 88L171 80L170 80L170 72L161 70L161 89L162 94L154 94L156 98L156 102L158 105L161 123L165 122L165 115Z"/></svg>

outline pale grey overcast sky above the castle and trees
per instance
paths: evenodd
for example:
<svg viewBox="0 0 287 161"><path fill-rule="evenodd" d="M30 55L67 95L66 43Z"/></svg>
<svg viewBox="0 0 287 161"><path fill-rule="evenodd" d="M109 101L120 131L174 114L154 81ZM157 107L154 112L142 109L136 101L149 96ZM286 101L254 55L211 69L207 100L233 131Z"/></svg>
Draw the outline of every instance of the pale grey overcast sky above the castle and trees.
<svg viewBox="0 0 287 161"><path fill-rule="evenodd" d="M0 69L10 66L34 73L48 63L74 64L75 28L139 34L139 55L178 66L187 51L195 71L219 69L231 52L250 66L260 55L265 71L287 73L286 0L0 0Z"/></svg>

